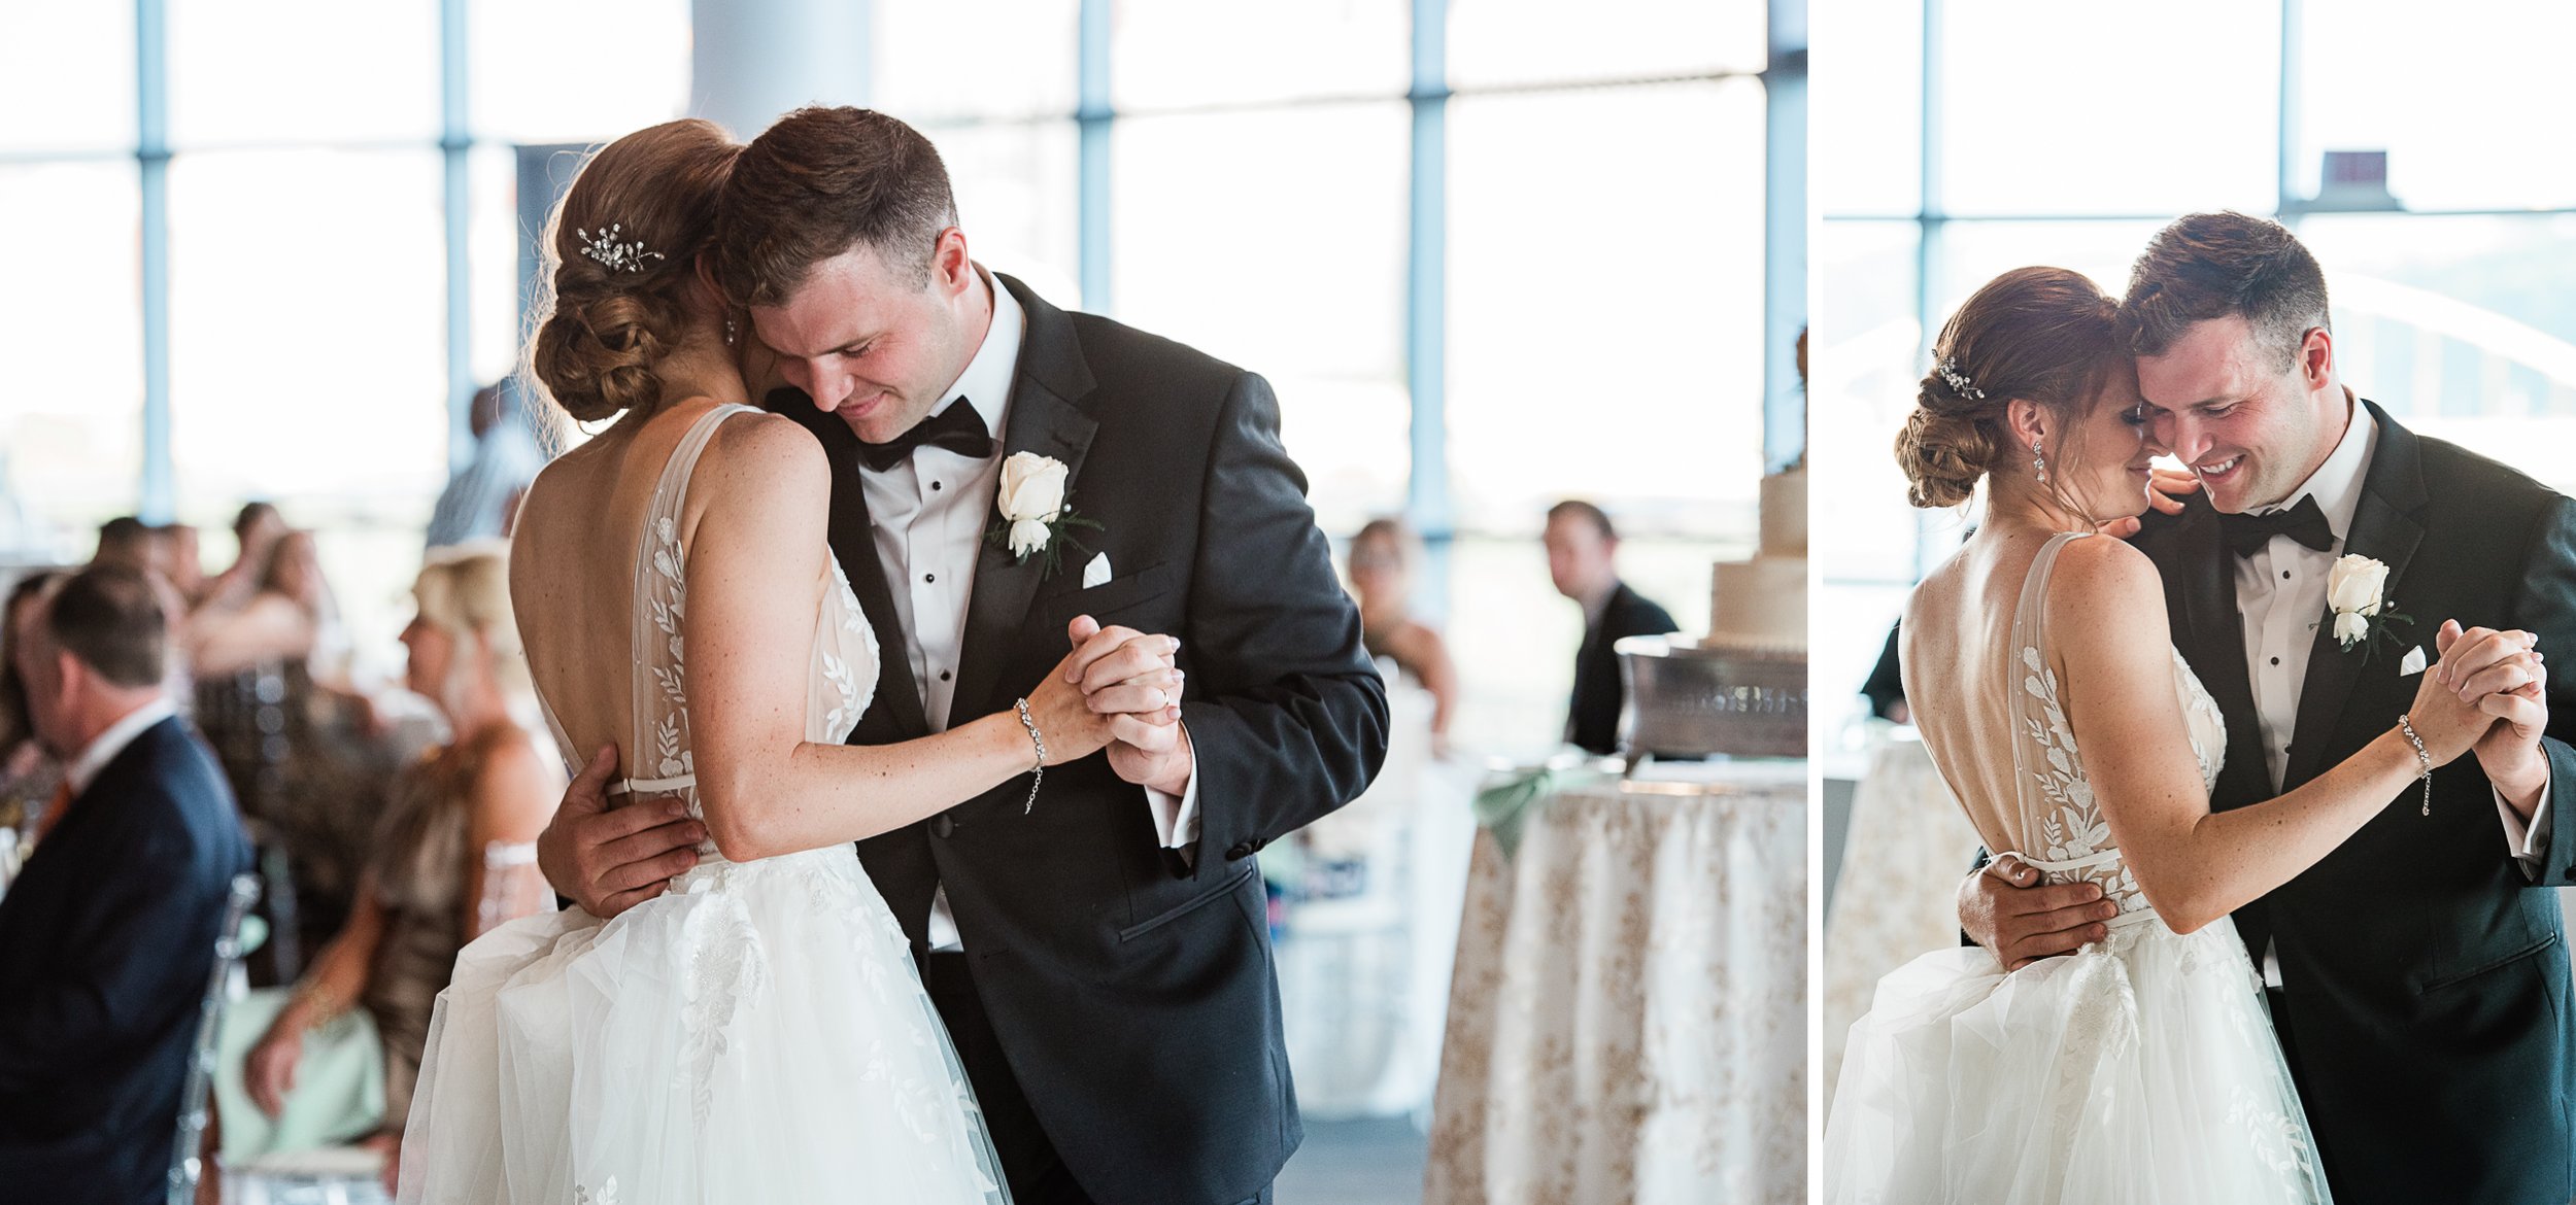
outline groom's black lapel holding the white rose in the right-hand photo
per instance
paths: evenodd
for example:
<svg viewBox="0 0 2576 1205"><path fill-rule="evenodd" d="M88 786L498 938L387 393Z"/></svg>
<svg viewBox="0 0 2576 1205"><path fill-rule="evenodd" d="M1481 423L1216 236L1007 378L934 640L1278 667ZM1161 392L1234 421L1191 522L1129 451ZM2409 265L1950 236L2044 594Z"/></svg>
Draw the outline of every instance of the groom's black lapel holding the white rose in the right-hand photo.
<svg viewBox="0 0 2576 1205"><path fill-rule="evenodd" d="M2344 556L2370 556L2388 566L2388 587L2383 597L2406 597L2406 564L2414 561L2416 546L2424 543L2424 523L2419 518L2424 507L2424 458L2411 430L2398 427L2372 407L2370 417L2378 420L2378 448L2370 453L2370 471L2362 474L2362 500L2352 510L2352 533L2344 536ZM2380 667L2383 657L2406 657L2403 646L2424 644L2427 657L2432 654L2429 633L2419 631L2424 618L2416 615L2414 626L2398 628L2398 646L2383 646L2370 651L2367 662L2375 672L2396 675L2391 662ZM2344 651L2334 639L2331 613L2316 615L2316 641L2308 646L2308 680L2298 690L2298 726L2290 736L2290 760L2282 770L2282 788L2293 788L2316 778L2324 767L2326 754L2334 752L2334 729L2352 703L2352 693L2362 680L2362 649Z"/></svg>

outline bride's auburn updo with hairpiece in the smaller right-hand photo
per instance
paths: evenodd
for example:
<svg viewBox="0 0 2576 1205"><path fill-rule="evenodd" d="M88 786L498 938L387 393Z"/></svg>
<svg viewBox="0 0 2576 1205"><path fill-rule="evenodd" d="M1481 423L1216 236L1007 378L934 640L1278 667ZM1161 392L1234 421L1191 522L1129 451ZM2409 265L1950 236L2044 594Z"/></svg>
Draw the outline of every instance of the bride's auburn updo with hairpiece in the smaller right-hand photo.
<svg viewBox="0 0 2576 1205"><path fill-rule="evenodd" d="M2117 309L2066 268L2014 268L1986 281L1940 330L1932 371L1896 435L1906 497L1917 507L1955 507L1981 476L2014 463L2027 471L2030 448L2012 438L2014 399L2038 402L2058 417L2058 430L2074 430L2117 363ZM2063 484L2069 469L2050 463L2050 481Z"/></svg>

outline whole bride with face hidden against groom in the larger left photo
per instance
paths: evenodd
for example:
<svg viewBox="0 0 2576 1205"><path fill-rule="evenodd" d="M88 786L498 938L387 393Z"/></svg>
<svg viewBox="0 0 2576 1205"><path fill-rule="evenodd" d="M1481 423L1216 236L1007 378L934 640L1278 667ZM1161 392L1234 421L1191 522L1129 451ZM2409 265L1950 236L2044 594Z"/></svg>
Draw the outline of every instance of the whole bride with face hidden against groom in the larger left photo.
<svg viewBox="0 0 2576 1205"><path fill-rule="evenodd" d="M556 209L531 366L569 417L616 422L536 479L510 559L564 760L621 747L626 806L685 808L714 842L611 922L531 917L459 955L404 1202L1007 1200L850 842L1090 757L1110 716L1059 667L1018 713L837 744L878 646L824 543L822 448L744 404L698 268L737 152L706 121L652 126ZM1110 628L1082 651L1175 687L1170 644Z"/></svg>

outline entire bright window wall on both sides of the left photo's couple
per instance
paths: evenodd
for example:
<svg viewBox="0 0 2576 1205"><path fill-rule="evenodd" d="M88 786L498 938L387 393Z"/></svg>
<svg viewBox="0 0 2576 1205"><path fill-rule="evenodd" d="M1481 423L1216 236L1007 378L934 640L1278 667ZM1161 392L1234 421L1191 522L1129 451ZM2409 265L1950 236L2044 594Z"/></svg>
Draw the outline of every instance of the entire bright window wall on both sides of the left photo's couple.
<svg viewBox="0 0 2576 1205"><path fill-rule="evenodd" d="M1765 180L1803 178L1775 103L1803 90L1803 31L1754 0L863 10L850 77L940 144L984 263L1267 376L1334 536L1422 528L1463 744L1558 734L1579 613L1538 551L1553 500L1602 502L1628 579L1705 623L1708 561L1752 546L1765 420L1795 415L1803 296L1765 281L1801 278L1803 221ZM459 407L526 330L520 147L685 113L690 21L0 15L0 221L46 232L15 263L41 288L0 301L33 373L0 399L0 523L26 512L0 543L85 556L142 512L206 528L222 564L229 515L273 500L319 530L361 662L394 664ZM1795 451L1772 435L1770 461Z"/></svg>

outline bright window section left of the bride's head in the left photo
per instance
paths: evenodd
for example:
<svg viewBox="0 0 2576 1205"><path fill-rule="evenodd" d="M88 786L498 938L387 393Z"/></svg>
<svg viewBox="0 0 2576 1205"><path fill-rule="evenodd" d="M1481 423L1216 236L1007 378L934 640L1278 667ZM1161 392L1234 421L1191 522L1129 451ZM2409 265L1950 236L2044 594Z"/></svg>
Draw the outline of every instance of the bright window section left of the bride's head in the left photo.
<svg viewBox="0 0 2576 1205"><path fill-rule="evenodd" d="M397 667L456 407L518 355L510 147L685 93L685 0L10 5L0 224L41 237L0 301L0 556L139 512L222 566L268 500L358 669Z"/></svg>

